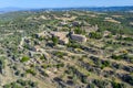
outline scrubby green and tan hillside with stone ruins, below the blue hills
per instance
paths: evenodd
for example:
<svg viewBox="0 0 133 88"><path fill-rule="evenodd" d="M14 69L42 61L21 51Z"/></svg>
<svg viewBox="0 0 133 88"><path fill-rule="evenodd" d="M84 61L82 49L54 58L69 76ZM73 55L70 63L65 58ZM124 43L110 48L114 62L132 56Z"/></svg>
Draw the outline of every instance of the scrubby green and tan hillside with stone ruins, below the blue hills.
<svg viewBox="0 0 133 88"><path fill-rule="evenodd" d="M132 87L132 12L0 14L0 88Z"/></svg>

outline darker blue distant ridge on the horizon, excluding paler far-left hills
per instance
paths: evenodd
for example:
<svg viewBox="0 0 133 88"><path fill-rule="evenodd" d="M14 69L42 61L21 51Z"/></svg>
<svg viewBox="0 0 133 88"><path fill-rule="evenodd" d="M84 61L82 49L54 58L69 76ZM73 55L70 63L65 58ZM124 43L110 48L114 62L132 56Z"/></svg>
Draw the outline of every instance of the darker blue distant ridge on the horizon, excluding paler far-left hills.
<svg viewBox="0 0 133 88"><path fill-rule="evenodd" d="M65 11L65 10L83 10L83 11L96 11L96 12L108 12L108 11L131 11L133 12L133 7L81 7L81 8L47 8L47 9L31 9L31 11Z"/></svg>

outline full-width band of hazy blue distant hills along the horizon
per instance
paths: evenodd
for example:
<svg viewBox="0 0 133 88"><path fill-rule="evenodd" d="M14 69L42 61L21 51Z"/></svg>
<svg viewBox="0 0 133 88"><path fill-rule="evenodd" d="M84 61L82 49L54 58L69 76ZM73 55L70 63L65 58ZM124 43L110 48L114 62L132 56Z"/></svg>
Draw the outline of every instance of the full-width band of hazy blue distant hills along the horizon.
<svg viewBox="0 0 133 88"><path fill-rule="evenodd" d="M44 9L23 9L23 8L2 8L0 9L0 13L4 12L13 12L13 11L45 11L45 10L52 10L52 11L65 11L65 10L85 10L85 11L131 11L133 12L133 7L81 7L81 8L44 8Z"/></svg>

